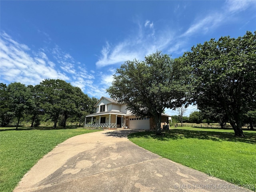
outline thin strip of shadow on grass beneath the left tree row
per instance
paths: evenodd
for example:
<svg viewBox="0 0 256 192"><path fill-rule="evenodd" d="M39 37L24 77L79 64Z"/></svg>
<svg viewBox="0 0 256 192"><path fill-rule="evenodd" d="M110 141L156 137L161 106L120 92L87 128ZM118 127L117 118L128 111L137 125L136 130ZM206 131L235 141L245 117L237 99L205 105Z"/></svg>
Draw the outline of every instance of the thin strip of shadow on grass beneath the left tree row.
<svg viewBox="0 0 256 192"><path fill-rule="evenodd" d="M59 129L76 129L76 128L83 128L79 126L66 126L66 128L63 128L62 126L57 126L56 129L54 129L52 126L39 126L39 127L3 127L0 128L0 131L23 131L23 130L59 130Z"/></svg>

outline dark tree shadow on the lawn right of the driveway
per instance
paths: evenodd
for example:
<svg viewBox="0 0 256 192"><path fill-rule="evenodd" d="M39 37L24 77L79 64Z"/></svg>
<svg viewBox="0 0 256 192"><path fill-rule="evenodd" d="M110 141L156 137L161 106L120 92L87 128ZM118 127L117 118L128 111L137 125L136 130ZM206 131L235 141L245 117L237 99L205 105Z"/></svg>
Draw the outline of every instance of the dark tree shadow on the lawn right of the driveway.
<svg viewBox="0 0 256 192"><path fill-rule="evenodd" d="M256 134L244 132L245 138L235 137L234 133L215 132L215 131L195 131L195 130L162 130L162 136L157 136L154 131L145 131L132 133L128 138L153 138L157 140L177 140L184 138L196 138L204 140L212 140L216 142L232 141L256 144Z"/></svg>

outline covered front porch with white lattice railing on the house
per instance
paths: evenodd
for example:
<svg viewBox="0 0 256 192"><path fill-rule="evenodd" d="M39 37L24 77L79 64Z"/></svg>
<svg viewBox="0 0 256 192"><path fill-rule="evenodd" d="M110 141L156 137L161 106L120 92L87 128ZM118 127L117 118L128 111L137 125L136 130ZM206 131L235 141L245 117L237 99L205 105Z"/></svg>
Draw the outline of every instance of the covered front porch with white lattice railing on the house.
<svg viewBox="0 0 256 192"><path fill-rule="evenodd" d="M124 113L101 112L89 114L85 118L84 127L88 128L125 128ZM87 119L91 118L87 122Z"/></svg>

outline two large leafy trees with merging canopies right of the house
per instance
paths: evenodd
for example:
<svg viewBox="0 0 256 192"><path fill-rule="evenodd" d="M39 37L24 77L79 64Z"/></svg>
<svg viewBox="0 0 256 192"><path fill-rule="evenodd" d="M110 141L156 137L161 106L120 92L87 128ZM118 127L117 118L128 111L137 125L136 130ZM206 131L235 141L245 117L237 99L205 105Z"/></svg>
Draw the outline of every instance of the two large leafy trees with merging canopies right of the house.
<svg viewBox="0 0 256 192"><path fill-rule="evenodd" d="M256 32L197 44L180 58L160 51L126 61L107 91L137 116L151 116L161 134L165 108L196 104L209 118L228 121L235 136L256 119Z"/></svg>

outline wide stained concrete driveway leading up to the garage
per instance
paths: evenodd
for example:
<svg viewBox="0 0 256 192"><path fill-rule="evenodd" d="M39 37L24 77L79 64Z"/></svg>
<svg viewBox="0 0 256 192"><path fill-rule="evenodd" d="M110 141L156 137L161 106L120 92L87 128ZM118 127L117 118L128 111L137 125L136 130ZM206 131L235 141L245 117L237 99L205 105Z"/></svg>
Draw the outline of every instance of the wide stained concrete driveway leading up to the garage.
<svg viewBox="0 0 256 192"><path fill-rule="evenodd" d="M14 192L250 192L133 144L127 139L131 132L104 130L66 140Z"/></svg>

